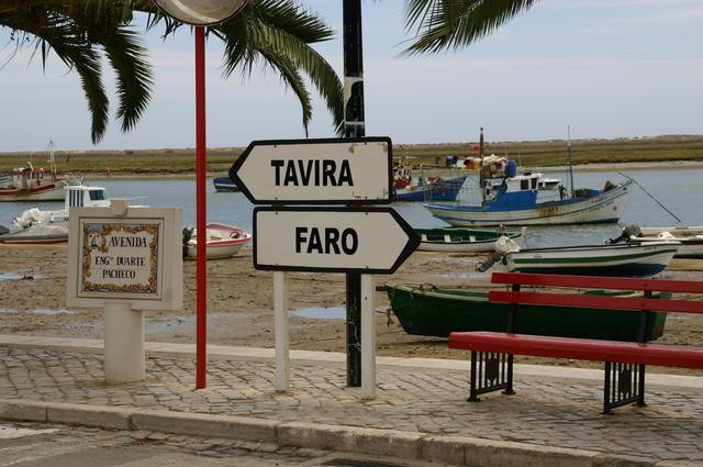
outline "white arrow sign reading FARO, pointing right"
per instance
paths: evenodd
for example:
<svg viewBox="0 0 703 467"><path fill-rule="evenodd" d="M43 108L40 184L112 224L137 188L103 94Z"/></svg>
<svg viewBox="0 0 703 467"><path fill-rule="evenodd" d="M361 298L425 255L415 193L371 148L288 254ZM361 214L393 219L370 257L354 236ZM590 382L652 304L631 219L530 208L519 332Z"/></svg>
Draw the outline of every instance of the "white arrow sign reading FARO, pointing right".
<svg viewBox="0 0 703 467"><path fill-rule="evenodd" d="M392 274L420 245L391 208L256 208L254 267Z"/></svg>

